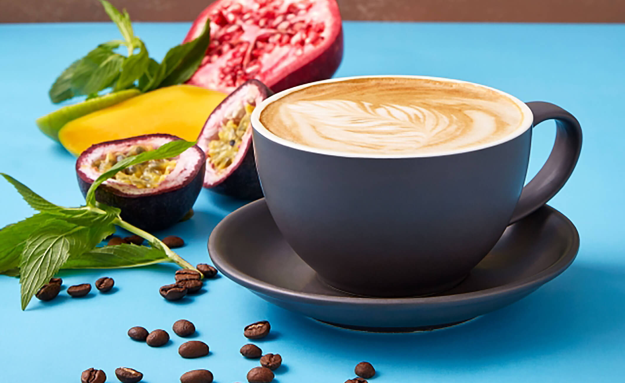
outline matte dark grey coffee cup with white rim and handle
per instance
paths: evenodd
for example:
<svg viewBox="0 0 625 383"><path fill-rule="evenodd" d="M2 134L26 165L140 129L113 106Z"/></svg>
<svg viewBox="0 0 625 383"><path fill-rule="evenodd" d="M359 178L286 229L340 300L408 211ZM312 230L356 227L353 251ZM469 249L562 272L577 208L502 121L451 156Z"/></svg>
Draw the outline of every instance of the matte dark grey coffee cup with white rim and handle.
<svg viewBox="0 0 625 383"><path fill-rule="evenodd" d="M341 79L321 82L332 81ZM521 106L524 129L486 147L437 156L337 154L262 126L264 106L310 85L256 107L256 166L286 241L322 281L353 294L418 296L455 286L508 225L561 189L581 151L581 127L569 112L548 102L523 104L501 91ZM556 120L556 142L523 187L532 128L547 119Z"/></svg>

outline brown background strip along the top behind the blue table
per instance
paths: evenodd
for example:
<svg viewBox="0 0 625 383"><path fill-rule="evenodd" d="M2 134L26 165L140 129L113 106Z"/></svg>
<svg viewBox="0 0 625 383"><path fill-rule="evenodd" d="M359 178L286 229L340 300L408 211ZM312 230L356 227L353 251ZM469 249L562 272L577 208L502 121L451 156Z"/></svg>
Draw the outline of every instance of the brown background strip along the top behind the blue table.
<svg viewBox="0 0 625 383"><path fill-rule="evenodd" d="M313 0L314 1L314 0ZM135 21L190 21L211 0L112 0ZM625 0L338 0L346 20L625 22ZM0 22L106 21L96 0L0 0Z"/></svg>

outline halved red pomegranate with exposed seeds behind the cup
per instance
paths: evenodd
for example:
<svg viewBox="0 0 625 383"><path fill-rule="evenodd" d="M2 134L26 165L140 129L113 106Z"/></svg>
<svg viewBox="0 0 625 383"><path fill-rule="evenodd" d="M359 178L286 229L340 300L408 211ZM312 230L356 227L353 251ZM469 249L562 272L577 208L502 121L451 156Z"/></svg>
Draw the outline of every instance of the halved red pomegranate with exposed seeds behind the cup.
<svg viewBox="0 0 625 383"><path fill-rule="evenodd" d="M188 83L229 93L248 79L274 92L328 79L343 56L336 0L217 0L184 41L211 18L211 43Z"/></svg>

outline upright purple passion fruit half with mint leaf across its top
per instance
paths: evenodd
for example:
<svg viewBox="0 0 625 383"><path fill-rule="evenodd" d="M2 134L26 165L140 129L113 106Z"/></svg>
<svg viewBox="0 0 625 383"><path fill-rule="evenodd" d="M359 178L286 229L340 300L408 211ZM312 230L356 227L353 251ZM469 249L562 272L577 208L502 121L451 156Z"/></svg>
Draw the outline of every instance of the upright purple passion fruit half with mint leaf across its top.
<svg viewBox="0 0 625 383"><path fill-rule="evenodd" d="M76 161L78 184L86 196L100 174L122 159L179 140L171 134L146 134L89 147ZM124 221L146 231L166 229L193 207L204 181L206 156L192 146L177 157L128 167L96 190L96 201L121 209Z"/></svg>

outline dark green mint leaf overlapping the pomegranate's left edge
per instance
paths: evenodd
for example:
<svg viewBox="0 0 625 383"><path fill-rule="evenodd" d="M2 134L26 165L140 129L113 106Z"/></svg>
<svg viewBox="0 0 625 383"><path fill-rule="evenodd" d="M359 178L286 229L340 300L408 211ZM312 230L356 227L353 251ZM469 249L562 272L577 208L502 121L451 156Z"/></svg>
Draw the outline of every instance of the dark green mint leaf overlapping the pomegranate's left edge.
<svg viewBox="0 0 625 383"><path fill-rule="evenodd" d="M166 71L156 88L182 84L197 71L211 41L210 23L209 18L202 33L196 39L169 49L163 59Z"/></svg>

